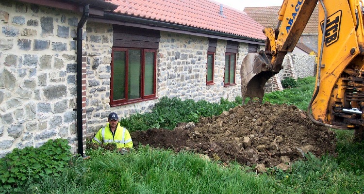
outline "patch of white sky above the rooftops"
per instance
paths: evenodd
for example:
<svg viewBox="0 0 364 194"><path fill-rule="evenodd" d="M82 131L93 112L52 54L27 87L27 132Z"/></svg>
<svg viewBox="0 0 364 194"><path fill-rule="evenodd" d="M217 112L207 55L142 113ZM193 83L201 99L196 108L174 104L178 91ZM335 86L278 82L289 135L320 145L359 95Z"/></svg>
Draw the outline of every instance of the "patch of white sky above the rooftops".
<svg viewBox="0 0 364 194"><path fill-rule="evenodd" d="M281 6L283 0L215 0L237 10L243 11L245 7Z"/></svg>

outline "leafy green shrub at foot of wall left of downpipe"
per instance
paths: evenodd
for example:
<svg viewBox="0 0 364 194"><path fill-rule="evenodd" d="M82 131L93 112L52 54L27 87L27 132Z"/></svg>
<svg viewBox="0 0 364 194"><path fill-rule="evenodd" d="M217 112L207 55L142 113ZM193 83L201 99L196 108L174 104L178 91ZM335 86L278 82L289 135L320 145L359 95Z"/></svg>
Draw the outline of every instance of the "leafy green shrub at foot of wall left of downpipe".
<svg viewBox="0 0 364 194"><path fill-rule="evenodd" d="M0 159L0 193L39 182L45 176L59 176L71 159L65 139L49 140L38 148L15 148Z"/></svg>

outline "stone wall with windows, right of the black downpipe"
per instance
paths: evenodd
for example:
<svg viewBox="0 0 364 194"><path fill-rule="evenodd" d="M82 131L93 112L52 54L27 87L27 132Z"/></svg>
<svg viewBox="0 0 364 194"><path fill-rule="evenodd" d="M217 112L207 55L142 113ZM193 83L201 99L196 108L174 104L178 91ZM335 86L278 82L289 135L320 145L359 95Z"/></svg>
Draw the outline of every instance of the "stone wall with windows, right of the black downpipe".
<svg viewBox="0 0 364 194"><path fill-rule="evenodd" d="M87 23L87 134L93 136L107 122L107 115L120 117L146 113L158 99L110 107L112 26ZM91 38L94 37L94 38ZM101 39L101 40L100 40ZM105 44L101 44L104 40ZM219 102L241 96L240 64L248 53L248 44L240 43L237 54L236 85L224 87L226 41L218 40L215 53L214 83L206 85L208 38L161 32L157 55L157 97ZM96 67L96 68L95 68Z"/></svg>

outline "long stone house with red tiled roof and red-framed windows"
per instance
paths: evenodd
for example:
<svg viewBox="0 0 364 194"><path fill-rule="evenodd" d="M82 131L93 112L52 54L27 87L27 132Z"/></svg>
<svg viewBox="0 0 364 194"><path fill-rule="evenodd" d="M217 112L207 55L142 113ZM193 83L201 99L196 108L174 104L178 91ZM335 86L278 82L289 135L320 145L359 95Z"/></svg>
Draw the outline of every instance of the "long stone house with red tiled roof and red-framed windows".
<svg viewBox="0 0 364 194"><path fill-rule="evenodd" d="M241 96L240 64L262 26L210 0L1 0L0 157L85 138L159 97Z"/></svg>

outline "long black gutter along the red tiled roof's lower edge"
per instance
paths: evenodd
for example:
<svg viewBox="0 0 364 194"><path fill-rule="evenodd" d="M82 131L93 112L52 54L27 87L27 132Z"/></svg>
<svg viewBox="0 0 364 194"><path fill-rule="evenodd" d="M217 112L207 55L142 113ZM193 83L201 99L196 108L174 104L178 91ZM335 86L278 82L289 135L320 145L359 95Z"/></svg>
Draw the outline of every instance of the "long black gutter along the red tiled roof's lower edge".
<svg viewBox="0 0 364 194"><path fill-rule="evenodd" d="M255 42L265 42L265 40L254 39L254 38L249 38L249 37L245 37L245 36L210 31L210 30L205 30L205 29L200 29L200 28L195 28L195 27L190 27L190 26L183 26L183 25L179 25L179 24L166 23L166 22L162 22L162 21L155 21L155 20L144 19L144 18L139 18L139 17L118 15L118 14L113 14L113 13L104 13L103 18L110 19L110 20L116 20L116 21L127 21L127 22L132 22L132 23L172 28L172 29L184 30L184 31L190 31L190 32L205 33L205 34L230 37L230 38L236 38L236 39L242 39L242 40L250 40L250 41L255 41Z"/></svg>

